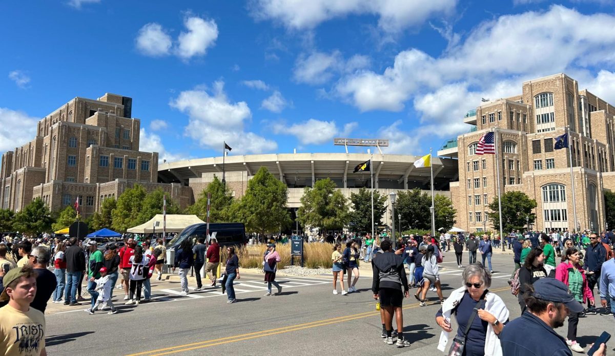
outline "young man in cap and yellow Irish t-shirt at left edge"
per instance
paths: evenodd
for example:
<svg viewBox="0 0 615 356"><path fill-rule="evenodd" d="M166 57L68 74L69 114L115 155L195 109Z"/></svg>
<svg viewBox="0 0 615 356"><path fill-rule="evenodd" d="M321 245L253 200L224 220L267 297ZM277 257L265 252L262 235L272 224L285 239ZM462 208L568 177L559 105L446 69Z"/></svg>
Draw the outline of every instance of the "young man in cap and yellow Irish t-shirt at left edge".
<svg viewBox="0 0 615 356"><path fill-rule="evenodd" d="M0 272L1 273L1 272ZM31 266L11 269L2 280L0 350L5 356L46 356L45 316L31 308L36 295L36 272Z"/></svg>

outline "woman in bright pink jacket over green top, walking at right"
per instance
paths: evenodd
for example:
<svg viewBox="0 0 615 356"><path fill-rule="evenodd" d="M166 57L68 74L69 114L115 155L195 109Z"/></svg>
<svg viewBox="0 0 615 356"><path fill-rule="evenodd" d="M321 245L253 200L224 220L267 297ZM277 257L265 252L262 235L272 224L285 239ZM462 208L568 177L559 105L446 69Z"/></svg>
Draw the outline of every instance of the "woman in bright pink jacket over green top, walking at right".
<svg viewBox="0 0 615 356"><path fill-rule="evenodd" d="M555 279L561 280L568 286L568 290L572 293L574 299L582 304L589 299L591 305L595 304L592 290L589 289L585 271L580 263L579 250L572 247L571 240L566 240L566 245L570 245L561 254L561 263L555 269ZM568 314L568 335L566 336L566 344L575 352L584 352L581 345L576 341L577 325L579 324L579 315L581 313L569 312Z"/></svg>

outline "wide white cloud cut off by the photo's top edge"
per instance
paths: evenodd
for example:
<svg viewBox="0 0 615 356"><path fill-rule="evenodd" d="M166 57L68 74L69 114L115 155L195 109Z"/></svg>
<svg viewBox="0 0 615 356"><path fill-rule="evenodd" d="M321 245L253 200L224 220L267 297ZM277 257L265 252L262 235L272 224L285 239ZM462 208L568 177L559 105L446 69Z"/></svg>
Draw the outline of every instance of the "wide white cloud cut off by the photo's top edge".
<svg viewBox="0 0 615 356"><path fill-rule="evenodd" d="M259 20L275 20L295 30L309 30L347 15L377 15L380 28L397 32L421 25L427 18L450 14L456 3L456 0L253 0L250 9Z"/></svg>

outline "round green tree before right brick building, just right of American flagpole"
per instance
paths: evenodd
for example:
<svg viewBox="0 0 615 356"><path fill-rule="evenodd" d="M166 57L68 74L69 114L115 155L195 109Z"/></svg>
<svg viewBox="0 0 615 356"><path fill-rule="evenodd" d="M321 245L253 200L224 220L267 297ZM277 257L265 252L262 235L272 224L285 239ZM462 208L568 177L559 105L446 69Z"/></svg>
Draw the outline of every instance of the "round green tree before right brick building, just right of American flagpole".
<svg viewBox="0 0 615 356"><path fill-rule="evenodd" d="M502 194L502 225L504 233L512 230L522 230L525 228L526 216L530 217L530 224L536 220L536 214L532 212L536 208L536 200L530 199L524 192L510 191ZM489 220L496 231L499 231L499 208L498 197L493 198L493 202L488 205L491 212Z"/></svg>

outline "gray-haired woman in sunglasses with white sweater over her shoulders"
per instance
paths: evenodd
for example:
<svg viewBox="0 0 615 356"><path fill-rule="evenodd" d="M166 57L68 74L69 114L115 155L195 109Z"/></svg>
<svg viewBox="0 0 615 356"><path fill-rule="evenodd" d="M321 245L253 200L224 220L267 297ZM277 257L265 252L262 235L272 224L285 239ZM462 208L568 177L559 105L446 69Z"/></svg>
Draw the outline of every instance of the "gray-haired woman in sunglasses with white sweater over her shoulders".
<svg viewBox="0 0 615 356"><path fill-rule="evenodd" d="M445 350L453 331L450 318L454 314L458 324L456 338L466 342L462 355L501 355L498 335L508 321L509 311L502 299L488 290L491 275L482 264L470 264L462 277L463 287L454 290L435 314L435 322L442 328L438 350ZM465 334L468 324L470 327Z"/></svg>

